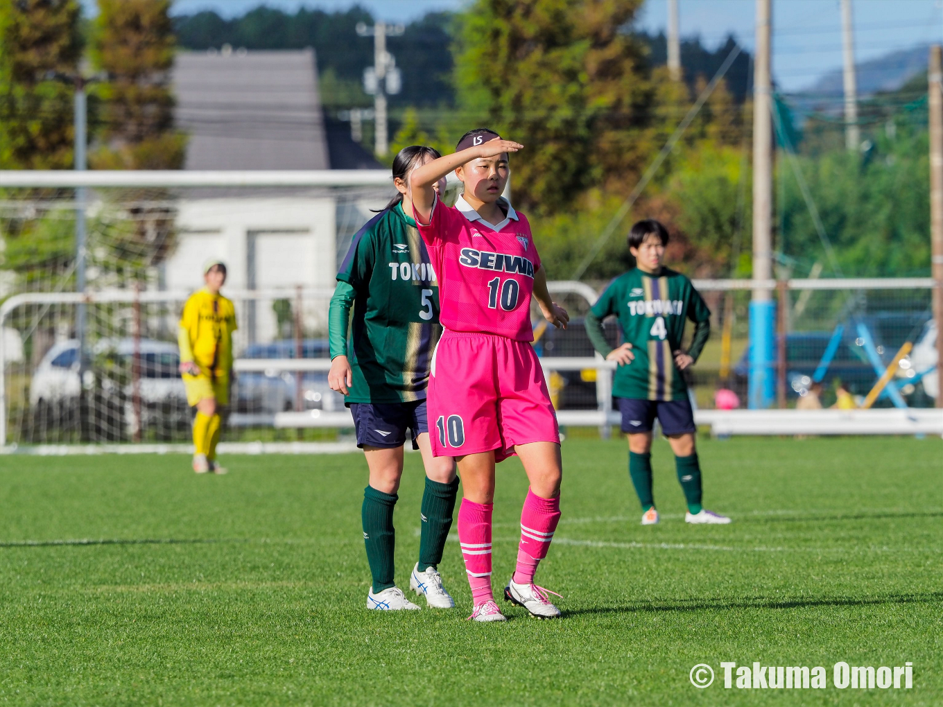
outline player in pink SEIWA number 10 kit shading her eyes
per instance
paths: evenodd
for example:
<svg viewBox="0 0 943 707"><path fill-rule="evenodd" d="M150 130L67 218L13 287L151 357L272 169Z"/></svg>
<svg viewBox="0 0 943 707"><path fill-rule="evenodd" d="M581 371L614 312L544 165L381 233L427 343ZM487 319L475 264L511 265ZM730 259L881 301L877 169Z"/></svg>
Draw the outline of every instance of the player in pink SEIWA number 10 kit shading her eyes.
<svg viewBox="0 0 943 707"><path fill-rule="evenodd" d="M458 540L472 585L475 621L504 621L491 593L494 465L521 457L530 489L521 545L505 600L540 618L560 616L534 584L560 518L560 435L530 322L531 295L554 326L566 310L550 299L530 224L501 198L507 154L522 147L484 128L466 133L454 155L412 173L416 222L438 273L444 332L432 359L428 413L433 453L454 456L464 498ZM433 185L455 170L465 192L455 207Z"/></svg>

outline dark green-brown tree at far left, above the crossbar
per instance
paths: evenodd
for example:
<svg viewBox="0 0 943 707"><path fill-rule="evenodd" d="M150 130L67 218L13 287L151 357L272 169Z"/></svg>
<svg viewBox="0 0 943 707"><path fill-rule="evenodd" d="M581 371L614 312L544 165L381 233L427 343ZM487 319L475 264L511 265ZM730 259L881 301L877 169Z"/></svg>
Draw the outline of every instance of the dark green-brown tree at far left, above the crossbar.
<svg viewBox="0 0 943 707"><path fill-rule="evenodd" d="M69 169L78 0L0 0L0 169Z"/></svg>

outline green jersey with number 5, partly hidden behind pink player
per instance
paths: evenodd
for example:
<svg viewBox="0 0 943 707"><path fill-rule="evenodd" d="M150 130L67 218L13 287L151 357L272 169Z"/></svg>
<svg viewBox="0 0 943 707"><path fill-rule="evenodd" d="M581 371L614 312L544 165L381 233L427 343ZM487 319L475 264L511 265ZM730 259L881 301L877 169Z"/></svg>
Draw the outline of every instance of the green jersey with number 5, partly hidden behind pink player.
<svg viewBox="0 0 943 707"><path fill-rule="evenodd" d="M354 236L338 279L356 289L348 403L425 398L441 336L438 279L416 222L398 204Z"/></svg>

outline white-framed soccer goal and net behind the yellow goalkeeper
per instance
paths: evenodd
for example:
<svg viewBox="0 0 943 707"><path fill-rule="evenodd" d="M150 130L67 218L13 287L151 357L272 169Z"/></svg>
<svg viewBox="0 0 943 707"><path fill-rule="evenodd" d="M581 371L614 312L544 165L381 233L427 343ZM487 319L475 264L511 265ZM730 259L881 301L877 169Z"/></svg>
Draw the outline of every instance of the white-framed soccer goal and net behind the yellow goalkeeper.
<svg viewBox="0 0 943 707"><path fill-rule="evenodd" d="M210 257L239 322L226 438L328 435L275 423L343 410L323 367L327 303L389 173L20 175L0 187L4 445L186 443L177 321Z"/></svg>

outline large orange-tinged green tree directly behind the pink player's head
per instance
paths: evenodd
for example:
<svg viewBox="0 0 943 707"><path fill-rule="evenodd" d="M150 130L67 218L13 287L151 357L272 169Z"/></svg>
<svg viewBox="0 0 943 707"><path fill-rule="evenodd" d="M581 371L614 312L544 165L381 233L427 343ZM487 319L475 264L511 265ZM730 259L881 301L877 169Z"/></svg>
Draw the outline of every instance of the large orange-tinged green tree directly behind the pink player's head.
<svg viewBox="0 0 943 707"><path fill-rule="evenodd" d="M467 115L520 140L515 203L554 211L637 169L651 90L641 0L477 0L456 34ZM469 124L469 127L475 127Z"/></svg>

